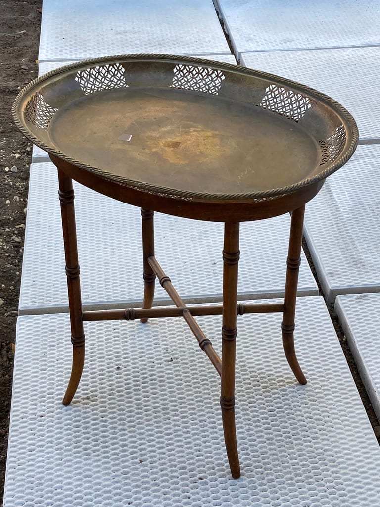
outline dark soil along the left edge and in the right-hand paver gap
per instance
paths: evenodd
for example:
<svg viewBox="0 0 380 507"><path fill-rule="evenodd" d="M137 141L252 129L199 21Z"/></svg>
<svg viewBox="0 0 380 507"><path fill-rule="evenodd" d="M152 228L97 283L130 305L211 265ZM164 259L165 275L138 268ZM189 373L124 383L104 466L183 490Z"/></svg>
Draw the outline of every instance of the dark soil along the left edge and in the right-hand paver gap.
<svg viewBox="0 0 380 507"><path fill-rule="evenodd" d="M42 0L0 0L0 502L3 500L13 348L20 290L25 213L32 147L14 127L11 104L18 91L37 77ZM308 252L307 252L308 253ZM309 261L310 256L308 256ZM332 321L363 404L380 442L380 426L360 382L336 316ZM0 506L2 503L0 503Z"/></svg>

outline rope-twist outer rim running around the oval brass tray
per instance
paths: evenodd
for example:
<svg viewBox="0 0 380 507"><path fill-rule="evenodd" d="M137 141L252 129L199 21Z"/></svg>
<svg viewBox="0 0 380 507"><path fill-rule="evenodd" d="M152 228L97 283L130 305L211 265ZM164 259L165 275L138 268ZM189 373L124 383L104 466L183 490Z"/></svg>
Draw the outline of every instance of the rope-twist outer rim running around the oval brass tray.
<svg viewBox="0 0 380 507"><path fill-rule="evenodd" d="M94 64L101 63L117 63L118 61L170 61L177 63L194 63L197 65L201 65L204 67L212 67L220 70L229 70L235 71L237 74L249 75L259 79L264 79L272 82L273 84L286 86L294 91L301 92L302 94L306 94L313 99L317 99L318 101L328 105L334 110L334 112L339 116L342 124L346 130L346 142L343 148L343 155L337 158L334 162L330 163L323 171L316 174L313 177L305 178L300 180L292 185L288 185L280 188L273 188L268 190L261 190L256 192L245 192L245 193L234 193L234 194L223 194L223 193L210 193L210 192L195 192L195 191L187 191L182 189L175 189L170 187L163 187L159 185L150 184L147 182L142 182L140 180L134 180L127 178L125 176L120 176L118 174L111 173L109 171L105 171L103 169L99 169L93 167L91 165L85 164L78 160L68 157L64 153L60 152L42 142L39 138L35 137L29 129L26 127L26 124L21 121L21 112L19 114L19 107L22 103L25 96L33 89L39 87L41 83L48 82L52 77L58 76L68 70L72 69L82 69L88 68L89 66L93 66ZM37 90L36 90L37 91ZM276 76L274 74L265 73L261 70L252 69L249 67L244 67L240 65L234 65L231 63L218 62L210 59L204 59L199 57L189 57L189 56L178 56L178 55L165 55L165 54L125 54L125 55L113 55L113 56L103 56L99 58L90 58L86 60L80 60L68 65L64 65L57 69L51 70L49 73L40 76L29 84L27 84L16 96L13 104L12 104L12 117L16 127L22 132L22 134L29 139L33 144L42 148L46 152L51 153L55 157L74 165L80 169L85 171L90 171L104 179L110 179L112 181L118 182L123 186L137 189L140 191L145 191L153 194L166 195L168 197L186 199L186 200L265 200L265 199L273 199L279 196L283 196L285 194L291 194L298 190L301 190L303 187L307 187L309 185L313 185L321 180L324 180L330 174L337 171L340 167L346 164L346 162L352 157L354 154L358 141L359 141L359 130L357 124L353 118L353 116L346 110L346 108L339 104L336 100L325 95L318 90L310 88L306 85L302 85L297 83L296 81L292 81L290 79L282 78L280 76Z"/></svg>

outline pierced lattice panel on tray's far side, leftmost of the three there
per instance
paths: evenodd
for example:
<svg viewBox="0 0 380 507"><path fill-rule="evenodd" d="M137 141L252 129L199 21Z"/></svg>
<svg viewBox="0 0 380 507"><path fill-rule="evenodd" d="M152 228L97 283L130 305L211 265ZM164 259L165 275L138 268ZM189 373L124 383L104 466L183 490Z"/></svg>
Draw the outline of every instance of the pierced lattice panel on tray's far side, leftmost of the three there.
<svg viewBox="0 0 380 507"><path fill-rule="evenodd" d="M125 69L120 63L101 65L80 70L75 80L86 95L100 90L127 87Z"/></svg>

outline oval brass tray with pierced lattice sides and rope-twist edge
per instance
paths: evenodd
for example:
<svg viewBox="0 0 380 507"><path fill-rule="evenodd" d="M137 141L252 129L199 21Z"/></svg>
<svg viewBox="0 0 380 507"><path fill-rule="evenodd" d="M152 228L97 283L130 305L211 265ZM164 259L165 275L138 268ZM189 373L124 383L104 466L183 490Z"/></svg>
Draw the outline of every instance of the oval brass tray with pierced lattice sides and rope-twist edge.
<svg viewBox="0 0 380 507"><path fill-rule="evenodd" d="M165 55L57 69L20 92L13 117L34 144L70 164L187 199L284 195L336 171L358 142L352 116L315 90Z"/></svg>

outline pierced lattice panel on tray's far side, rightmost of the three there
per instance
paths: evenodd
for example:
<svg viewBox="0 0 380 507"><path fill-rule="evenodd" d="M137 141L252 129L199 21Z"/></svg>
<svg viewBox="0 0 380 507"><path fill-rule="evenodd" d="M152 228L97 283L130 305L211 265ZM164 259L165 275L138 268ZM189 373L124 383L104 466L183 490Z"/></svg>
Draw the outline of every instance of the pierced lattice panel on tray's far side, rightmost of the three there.
<svg viewBox="0 0 380 507"><path fill-rule="evenodd" d="M264 109L286 116L289 120L298 122L311 107L311 102L308 97L293 90L270 85L259 105Z"/></svg>

